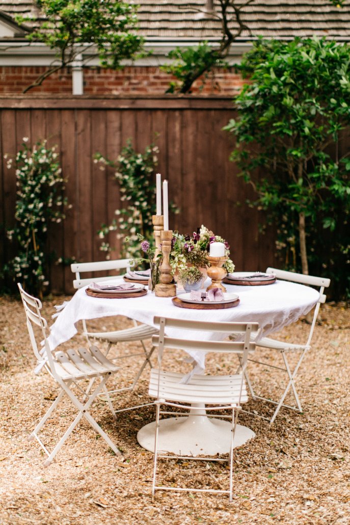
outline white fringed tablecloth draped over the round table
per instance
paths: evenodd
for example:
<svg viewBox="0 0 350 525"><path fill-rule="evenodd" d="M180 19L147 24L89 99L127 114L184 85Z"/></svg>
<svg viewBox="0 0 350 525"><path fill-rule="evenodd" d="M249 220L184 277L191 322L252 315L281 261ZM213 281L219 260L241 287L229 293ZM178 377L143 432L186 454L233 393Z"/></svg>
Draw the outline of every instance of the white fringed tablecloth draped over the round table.
<svg viewBox="0 0 350 525"><path fill-rule="evenodd" d="M276 281L267 286L225 286L228 292L237 293L239 296L240 303L237 307L222 310L189 310L175 307L170 298L156 297L150 291L143 297L133 299L100 299L89 297L85 288L81 288L60 311L52 325L48 338L50 348L54 350L59 344L71 339L77 333L77 325L82 319L118 315L149 325L154 325L154 316L207 322L258 322L261 338L298 320L311 310L320 297L319 292L313 288L288 281ZM181 337L181 331L172 329L167 335ZM211 332L191 331L190 337L212 340L217 335ZM225 334L222 338L225 338ZM194 353L192 357L198 364L203 364L199 355Z"/></svg>

